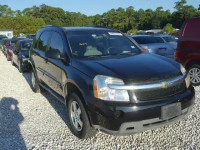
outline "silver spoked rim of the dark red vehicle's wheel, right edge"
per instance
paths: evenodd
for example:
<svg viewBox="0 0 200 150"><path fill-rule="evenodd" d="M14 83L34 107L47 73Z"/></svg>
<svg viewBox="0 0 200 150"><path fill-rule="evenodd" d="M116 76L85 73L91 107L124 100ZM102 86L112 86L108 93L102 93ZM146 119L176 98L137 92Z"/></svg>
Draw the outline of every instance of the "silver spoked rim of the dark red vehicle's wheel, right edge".
<svg viewBox="0 0 200 150"><path fill-rule="evenodd" d="M199 68L190 69L188 74L189 74L189 77L190 77L190 81L193 84L200 83L200 69Z"/></svg>

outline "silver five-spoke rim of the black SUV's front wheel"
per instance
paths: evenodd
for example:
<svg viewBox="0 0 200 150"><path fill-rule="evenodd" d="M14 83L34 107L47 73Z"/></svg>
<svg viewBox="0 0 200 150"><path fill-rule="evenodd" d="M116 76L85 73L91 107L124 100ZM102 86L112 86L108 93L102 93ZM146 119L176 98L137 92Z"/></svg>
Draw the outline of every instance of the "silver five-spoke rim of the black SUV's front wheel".
<svg viewBox="0 0 200 150"><path fill-rule="evenodd" d="M81 119L81 108L76 101L73 101L70 106L71 120L74 128L81 131L83 128L83 121Z"/></svg>

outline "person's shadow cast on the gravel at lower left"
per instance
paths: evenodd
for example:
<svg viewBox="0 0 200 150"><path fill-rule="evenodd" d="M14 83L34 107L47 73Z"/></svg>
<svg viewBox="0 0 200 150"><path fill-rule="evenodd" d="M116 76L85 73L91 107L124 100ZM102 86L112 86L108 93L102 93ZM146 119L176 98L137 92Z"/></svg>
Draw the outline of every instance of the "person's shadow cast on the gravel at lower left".
<svg viewBox="0 0 200 150"><path fill-rule="evenodd" d="M0 149L27 149L19 127L23 120L18 101L3 97L0 100Z"/></svg>

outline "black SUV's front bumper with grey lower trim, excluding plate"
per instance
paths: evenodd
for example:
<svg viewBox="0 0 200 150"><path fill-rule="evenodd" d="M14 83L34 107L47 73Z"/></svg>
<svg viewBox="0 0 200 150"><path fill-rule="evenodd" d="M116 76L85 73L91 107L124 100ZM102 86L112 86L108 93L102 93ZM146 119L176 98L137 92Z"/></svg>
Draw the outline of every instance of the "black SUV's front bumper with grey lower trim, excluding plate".
<svg viewBox="0 0 200 150"><path fill-rule="evenodd" d="M163 101L150 101L147 104L113 104L96 99L95 108L89 112L94 128L109 134L127 135L158 128L184 118L192 110L195 92L190 87L187 92ZM174 103L181 103L179 116L163 120L161 109Z"/></svg>

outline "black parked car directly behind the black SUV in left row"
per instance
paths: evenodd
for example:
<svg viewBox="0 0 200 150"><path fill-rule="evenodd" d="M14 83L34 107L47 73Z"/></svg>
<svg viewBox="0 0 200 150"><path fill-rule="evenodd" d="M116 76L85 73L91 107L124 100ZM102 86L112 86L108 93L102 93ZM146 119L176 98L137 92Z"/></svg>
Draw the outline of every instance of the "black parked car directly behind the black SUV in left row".
<svg viewBox="0 0 200 150"><path fill-rule="evenodd" d="M19 72L27 71L30 68L28 58L32 41L30 39L19 40L13 48L11 63L13 66L18 66Z"/></svg>

